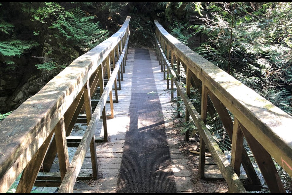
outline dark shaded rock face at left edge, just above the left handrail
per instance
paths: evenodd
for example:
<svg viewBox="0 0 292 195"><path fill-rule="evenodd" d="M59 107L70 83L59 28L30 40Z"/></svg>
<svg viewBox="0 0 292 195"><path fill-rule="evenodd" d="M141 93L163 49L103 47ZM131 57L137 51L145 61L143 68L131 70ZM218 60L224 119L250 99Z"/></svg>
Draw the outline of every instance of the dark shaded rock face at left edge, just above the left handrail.
<svg viewBox="0 0 292 195"><path fill-rule="evenodd" d="M23 76L9 75L0 79L0 113L15 110L36 94L47 82L59 73L58 70L41 71L24 80Z"/></svg>

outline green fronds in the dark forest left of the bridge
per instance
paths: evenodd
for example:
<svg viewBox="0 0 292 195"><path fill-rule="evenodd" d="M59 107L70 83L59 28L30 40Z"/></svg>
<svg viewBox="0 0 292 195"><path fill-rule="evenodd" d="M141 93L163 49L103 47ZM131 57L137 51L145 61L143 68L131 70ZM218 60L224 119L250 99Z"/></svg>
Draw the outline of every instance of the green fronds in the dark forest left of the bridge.
<svg viewBox="0 0 292 195"><path fill-rule="evenodd" d="M14 9L7 10L4 6ZM62 6L60 2L5 3L1 8L0 63L6 70L16 69L15 58L33 52L36 46L38 55L33 57L39 61L35 64L38 69L64 68L108 37L109 31L100 28L99 22L93 22L95 16L67 4ZM26 37L14 29L21 18L5 17L16 11L26 17Z"/></svg>

